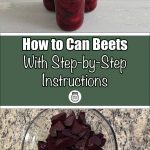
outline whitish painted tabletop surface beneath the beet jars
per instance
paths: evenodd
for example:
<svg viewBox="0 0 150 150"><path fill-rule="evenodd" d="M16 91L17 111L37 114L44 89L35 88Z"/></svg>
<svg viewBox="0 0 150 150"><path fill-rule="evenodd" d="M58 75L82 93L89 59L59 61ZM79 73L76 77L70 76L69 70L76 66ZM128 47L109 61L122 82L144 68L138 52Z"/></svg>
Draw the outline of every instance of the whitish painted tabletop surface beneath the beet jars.
<svg viewBox="0 0 150 150"><path fill-rule="evenodd" d="M0 0L0 32L64 32L42 0ZM98 0L75 32L150 32L150 0Z"/></svg>

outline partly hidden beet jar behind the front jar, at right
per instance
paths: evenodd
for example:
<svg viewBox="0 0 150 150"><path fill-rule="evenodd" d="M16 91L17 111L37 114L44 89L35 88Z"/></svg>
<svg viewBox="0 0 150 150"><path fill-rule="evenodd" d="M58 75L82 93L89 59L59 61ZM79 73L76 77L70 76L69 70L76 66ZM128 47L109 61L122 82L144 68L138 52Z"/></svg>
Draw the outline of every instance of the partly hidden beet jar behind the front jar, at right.
<svg viewBox="0 0 150 150"><path fill-rule="evenodd" d="M97 6L97 0L85 0L85 12L94 10Z"/></svg>

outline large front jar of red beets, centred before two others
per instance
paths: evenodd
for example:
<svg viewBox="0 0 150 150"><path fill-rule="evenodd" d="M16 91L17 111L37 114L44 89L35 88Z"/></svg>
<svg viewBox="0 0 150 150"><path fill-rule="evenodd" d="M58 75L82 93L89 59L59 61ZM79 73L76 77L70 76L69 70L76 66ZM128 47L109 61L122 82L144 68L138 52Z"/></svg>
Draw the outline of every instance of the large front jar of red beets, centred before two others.
<svg viewBox="0 0 150 150"><path fill-rule="evenodd" d="M66 31L78 29L84 19L85 0L55 0L56 20Z"/></svg>

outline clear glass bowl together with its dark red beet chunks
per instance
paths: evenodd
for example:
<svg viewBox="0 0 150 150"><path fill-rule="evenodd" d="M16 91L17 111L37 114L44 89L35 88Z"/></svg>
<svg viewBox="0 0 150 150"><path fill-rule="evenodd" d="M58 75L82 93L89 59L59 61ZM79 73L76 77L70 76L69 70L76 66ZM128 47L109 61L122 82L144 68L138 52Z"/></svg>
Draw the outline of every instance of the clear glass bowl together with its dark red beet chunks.
<svg viewBox="0 0 150 150"><path fill-rule="evenodd" d="M22 150L117 150L113 128L93 109L46 109L28 126Z"/></svg>

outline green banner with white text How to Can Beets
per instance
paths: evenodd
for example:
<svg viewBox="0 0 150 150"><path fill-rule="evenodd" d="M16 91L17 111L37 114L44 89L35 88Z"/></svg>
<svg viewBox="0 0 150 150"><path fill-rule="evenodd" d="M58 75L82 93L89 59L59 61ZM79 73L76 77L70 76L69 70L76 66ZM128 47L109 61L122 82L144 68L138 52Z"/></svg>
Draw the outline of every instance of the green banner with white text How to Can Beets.
<svg viewBox="0 0 150 150"><path fill-rule="evenodd" d="M148 106L149 51L149 36L1 36L1 105Z"/></svg>

